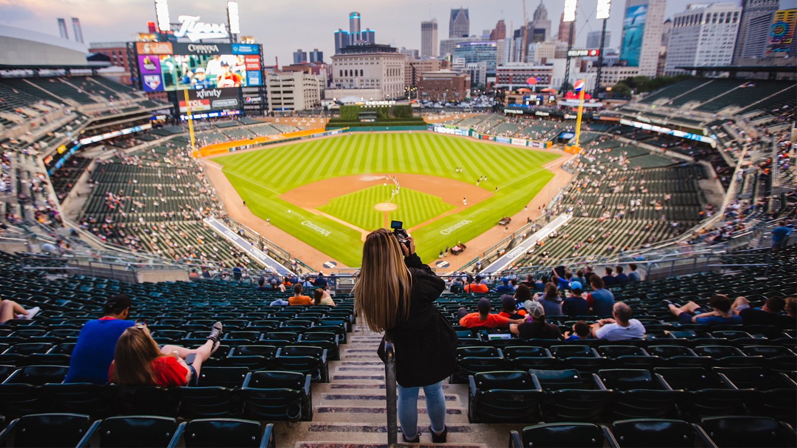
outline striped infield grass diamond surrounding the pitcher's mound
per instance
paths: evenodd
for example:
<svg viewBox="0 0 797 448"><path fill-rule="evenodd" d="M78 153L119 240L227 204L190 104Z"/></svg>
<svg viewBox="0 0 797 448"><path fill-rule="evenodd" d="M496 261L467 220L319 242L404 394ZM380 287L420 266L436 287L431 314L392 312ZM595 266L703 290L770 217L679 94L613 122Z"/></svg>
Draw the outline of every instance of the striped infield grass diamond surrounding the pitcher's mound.
<svg viewBox="0 0 797 448"><path fill-rule="evenodd" d="M396 210L387 213L387 218L404 222L406 229L418 226L454 208L437 196L409 188L402 188L391 201L392 187L393 183L388 183L387 186L377 185L338 196L327 205L318 207L318 210L350 222L360 229L373 230L385 225L384 212L374 208L379 202L392 202L398 206Z"/></svg>

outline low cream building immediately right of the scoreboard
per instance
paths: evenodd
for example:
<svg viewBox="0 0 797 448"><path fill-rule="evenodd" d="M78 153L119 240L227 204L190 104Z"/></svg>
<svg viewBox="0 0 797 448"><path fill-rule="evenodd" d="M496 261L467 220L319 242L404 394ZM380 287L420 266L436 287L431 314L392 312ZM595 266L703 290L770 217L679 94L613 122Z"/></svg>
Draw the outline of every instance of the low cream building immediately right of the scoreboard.
<svg viewBox="0 0 797 448"><path fill-rule="evenodd" d="M269 110L303 111L321 107L324 80L304 71L269 73L265 77Z"/></svg>

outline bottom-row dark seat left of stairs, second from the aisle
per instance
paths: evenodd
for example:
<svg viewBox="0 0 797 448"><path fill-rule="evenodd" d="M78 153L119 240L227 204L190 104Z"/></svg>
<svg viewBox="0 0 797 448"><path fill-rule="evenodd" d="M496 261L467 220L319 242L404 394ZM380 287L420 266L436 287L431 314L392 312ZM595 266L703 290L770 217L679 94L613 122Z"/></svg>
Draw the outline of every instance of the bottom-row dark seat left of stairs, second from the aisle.
<svg viewBox="0 0 797 448"><path fill-rule="evenodd" d="M176 446L186 423L154 415L109 417L100 422L96 434L86 434L77 444L84 446ZM93 435L93 437L92 437ZM92 439L98 439L93 441Z"/></svg>

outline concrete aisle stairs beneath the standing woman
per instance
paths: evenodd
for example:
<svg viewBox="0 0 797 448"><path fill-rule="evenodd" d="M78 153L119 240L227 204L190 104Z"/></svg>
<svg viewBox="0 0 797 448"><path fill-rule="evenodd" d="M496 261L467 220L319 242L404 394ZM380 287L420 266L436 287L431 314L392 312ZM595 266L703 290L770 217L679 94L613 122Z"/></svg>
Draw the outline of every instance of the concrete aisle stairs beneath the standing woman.
<svg viewBox="0 0 797 448"><path fill-rule="evenodd" d="M312 385L312 422L276 423L277 446L353 448L387 446L384 364L376 355L382 336L355 325L348 344L340 346L340 361L329 363L329 383ZM509 430L522 425L468 422L468 387L443 384L446 395L446 444L433 444L423 391L418 397L421 443L406 446L507 446ZM402 441L399 431L398 441Z"/></svg>

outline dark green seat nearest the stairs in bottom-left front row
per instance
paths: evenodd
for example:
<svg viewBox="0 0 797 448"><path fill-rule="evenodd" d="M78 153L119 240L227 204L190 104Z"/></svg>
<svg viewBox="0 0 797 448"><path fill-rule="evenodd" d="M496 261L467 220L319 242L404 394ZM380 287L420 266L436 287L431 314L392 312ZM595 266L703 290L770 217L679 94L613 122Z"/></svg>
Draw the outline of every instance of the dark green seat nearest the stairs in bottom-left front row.
<svg viewBox="0 0 797 448"><path fill-rule="evenodd" d="M183 446L186 448L214 448L216 446L240 446L271 448L274 441L274 425L238 419L196 419L186 424L183 430ZM176 443L172 442L175 446Z"/></svg>

